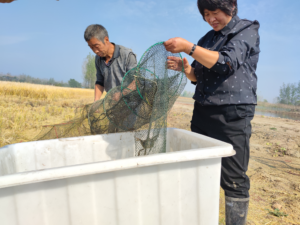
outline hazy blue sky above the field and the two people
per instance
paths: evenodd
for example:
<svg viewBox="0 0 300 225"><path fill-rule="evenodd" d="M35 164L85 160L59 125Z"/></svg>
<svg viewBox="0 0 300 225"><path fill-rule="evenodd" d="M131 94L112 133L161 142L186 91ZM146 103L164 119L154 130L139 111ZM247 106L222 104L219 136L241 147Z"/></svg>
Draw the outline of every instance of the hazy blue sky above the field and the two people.
<svg viewBox="0 0 300 225"><path fill-rule="evenodd" d="M102 24L110 40L138 59L152 44L172 37L193 43L211 28L197 0L18 0L0 4L0 72L82 82L92 52L83 39L90 24ZM261 24L258 94L273 101L283 82L300 81L299 0L238 0L239 17ZM190 62L192 58L187 57ZM194 86L187 84L187 91Z"/></svg>

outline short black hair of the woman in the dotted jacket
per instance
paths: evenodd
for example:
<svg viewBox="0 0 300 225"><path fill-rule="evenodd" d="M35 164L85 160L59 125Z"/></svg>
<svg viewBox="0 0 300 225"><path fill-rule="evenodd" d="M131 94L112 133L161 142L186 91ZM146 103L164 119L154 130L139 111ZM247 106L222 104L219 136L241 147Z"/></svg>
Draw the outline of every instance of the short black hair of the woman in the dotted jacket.
<svg viewBox="0 0 300 225"><path fill-rule="evenodd" d="M220 9L228 16L232 16L232 17L234 17L238 12L237 0L198 0L197 5L198 5L199 12L201 13L204 21L205 21L204 18L205 9L209 11L215 11L217 9Z"/></svg>

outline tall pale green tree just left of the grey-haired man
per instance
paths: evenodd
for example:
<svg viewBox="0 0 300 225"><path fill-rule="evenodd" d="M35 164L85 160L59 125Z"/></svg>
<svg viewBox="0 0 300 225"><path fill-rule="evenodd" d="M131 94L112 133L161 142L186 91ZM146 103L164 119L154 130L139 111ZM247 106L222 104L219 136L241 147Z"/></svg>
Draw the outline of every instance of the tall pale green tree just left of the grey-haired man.
<svg viewBox="0 0 300 225"><path fill-rule="evenodd" d="M95 55L91 53L85 58L82 66L84 87L94 88L96 81Z"/></svg>

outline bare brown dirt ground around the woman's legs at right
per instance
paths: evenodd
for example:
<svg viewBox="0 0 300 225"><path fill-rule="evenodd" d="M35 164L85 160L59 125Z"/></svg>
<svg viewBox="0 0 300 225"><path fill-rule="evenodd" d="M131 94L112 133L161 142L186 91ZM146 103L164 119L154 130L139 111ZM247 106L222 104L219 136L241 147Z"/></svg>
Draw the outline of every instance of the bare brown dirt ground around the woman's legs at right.
<svg viewBox="0 0 300 225"><path fill-rule="evenodd" d="M190 130L193 102L180 97L168 126ZM300 121L255 116L252 128L247 224L300 224ZM225 224L224 202L221 190L219 224Z"/></svg>

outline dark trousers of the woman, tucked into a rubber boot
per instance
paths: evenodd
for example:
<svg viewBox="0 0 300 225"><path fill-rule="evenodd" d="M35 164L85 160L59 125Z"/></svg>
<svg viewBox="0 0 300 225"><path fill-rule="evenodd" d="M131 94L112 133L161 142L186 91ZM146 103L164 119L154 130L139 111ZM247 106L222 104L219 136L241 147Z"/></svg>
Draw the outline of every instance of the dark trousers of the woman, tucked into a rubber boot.
<svg viewBox="0 0 300 225"><path fill-rule="evenodd" d="M233 146L236 155L222 158L221 187L225 196L248 198L249 139L255 105L202 106L195 102L191 130Z"/></svg>

